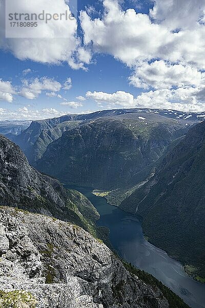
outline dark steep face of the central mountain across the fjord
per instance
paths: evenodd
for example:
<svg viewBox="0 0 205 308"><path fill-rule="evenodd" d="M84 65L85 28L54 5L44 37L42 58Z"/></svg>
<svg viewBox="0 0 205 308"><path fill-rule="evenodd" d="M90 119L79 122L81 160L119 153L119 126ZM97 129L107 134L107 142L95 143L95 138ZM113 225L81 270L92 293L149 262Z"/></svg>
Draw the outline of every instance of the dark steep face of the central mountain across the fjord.
<svg viewBox="0 0 205 308"><path fill-rule="evenodd" d="M186 123L158 114L125 114L93 120L52 142L36 167L74 184L114 188L135 184ZM149 169L149 167L148 167Z"/></svg>

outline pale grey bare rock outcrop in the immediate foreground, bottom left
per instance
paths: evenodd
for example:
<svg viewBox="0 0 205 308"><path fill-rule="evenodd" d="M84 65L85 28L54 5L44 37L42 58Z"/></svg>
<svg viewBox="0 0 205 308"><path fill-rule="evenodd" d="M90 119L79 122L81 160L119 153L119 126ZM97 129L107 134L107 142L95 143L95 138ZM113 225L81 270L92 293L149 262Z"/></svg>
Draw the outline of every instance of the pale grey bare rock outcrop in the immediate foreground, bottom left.
<svg viewBox="0 0 205 308"><path fill-rule="evenodd" d="M0 303L25 308L168 308L158 288L131 275L78 226L0 208ZM13 307L13 306L12 306Z"/></svg>

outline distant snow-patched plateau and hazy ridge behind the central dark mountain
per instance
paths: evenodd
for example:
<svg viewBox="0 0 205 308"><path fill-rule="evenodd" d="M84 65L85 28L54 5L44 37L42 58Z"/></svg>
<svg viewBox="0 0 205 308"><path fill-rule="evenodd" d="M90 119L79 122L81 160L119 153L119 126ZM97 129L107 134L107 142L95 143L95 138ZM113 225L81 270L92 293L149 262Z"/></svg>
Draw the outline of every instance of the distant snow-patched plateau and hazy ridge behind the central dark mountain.
<svg viewBox="0 0 205 308"><path fill-rule="evenodd" d="M46 147L52 141L58 139L65 130L68 130L72 127L78 127L80 122L83 125L99 118L101 119L104 117L109 117L113 119L118 115L130 113L136 114L135 119L138 119L139 116L142 117L141 113L145 113L146 116L147 114L158 114L161 115L161 119L169 118L173 119L174 121L187 121L186 123L188 123L188 125L205 119L205 114L203 114L202 112L191 113L163 109L103 110L89 114L70 114L54 119L33 121L30 127L23 131L20 136L9 136L9 138L16 144L18 144L20 148L22 148L29 162L32 165L35 165L36 161L43 156ZM74 126L73 121L78 121L78 123L76 123L76 126ZM71 127L69 127L68 122L73 122L71 124Z"/></svg>

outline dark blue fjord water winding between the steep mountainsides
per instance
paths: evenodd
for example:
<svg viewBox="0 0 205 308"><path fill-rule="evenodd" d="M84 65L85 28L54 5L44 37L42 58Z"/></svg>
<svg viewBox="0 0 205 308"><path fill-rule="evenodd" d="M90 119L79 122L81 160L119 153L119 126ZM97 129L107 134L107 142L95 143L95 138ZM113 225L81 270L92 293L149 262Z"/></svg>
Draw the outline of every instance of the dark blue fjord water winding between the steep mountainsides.
<svg viewBox="0 0 205 308"><path fill-rule="evenodd" d="M137 217L108 204L105 198L93 195L90 188L71 185L67 188L80 191L93 203L100 214L98 225L110 229L110 241L122 258L152 274L190 307L205 307L205 284L186 275L180 262L146 241Z"/></svg>

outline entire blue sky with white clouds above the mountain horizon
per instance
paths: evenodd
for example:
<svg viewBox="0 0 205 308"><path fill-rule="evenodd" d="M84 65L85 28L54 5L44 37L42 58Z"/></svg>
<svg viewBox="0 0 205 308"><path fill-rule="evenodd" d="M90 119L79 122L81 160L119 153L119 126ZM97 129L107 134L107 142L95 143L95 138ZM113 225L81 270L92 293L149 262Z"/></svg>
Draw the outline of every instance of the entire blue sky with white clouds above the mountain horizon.
<svg viewBox="0 0 205 308"><path fill-rule="evenodd" d="M78 17L83 12L77 28L59 29L66 38L0 36L0 120L133 107L204 110L202 0L194 6L191 0L89 0L86 6L79 0L77 6Z"/></svg>

